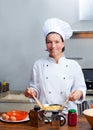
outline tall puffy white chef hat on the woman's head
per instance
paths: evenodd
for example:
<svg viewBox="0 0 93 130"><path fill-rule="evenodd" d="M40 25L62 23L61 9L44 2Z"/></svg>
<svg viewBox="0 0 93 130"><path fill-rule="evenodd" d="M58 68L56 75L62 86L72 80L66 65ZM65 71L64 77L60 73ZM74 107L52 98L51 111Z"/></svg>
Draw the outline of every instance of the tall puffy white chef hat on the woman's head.
<svg viewBox="0 0 93 130"><path fill-rule="evenodd" d="M57 18L46 20L43 32L45 37L51 32L56 32L62 36L64 41L72 36L72 29L69 24Z"/></svg>

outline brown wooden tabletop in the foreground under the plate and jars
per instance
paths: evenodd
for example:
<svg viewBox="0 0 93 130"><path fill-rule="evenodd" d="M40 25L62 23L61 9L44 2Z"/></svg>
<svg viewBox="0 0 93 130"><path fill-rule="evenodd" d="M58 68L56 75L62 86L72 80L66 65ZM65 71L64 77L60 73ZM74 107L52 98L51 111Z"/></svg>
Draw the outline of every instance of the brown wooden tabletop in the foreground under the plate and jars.
<svg viewBox="0 0 93 130"><path fill-rule="evenodd" d="M0 121L0 129L1 130L52 130L49 123L45 124L42 127L34 128L31 127L30 121L24 123L5 123ZM77 126L71 127L68 126L67 123L60 127L60 130L91 130L91 126L87 122L86 118L82 116L78 116Z"/></svg>

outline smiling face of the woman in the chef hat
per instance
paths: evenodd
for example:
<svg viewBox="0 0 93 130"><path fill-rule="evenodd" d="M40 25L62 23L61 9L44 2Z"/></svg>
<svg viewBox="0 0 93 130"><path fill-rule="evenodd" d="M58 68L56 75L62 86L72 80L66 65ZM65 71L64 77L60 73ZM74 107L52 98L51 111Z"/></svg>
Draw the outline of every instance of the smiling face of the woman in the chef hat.
<svg viewBox="0 0 93 130"><path fill-rule="evenodd" d="M58 60L62 57L62 49L64 48L64 41L62 37L57 33L50 33L46 38L46 47L49 55Z"/></svg>

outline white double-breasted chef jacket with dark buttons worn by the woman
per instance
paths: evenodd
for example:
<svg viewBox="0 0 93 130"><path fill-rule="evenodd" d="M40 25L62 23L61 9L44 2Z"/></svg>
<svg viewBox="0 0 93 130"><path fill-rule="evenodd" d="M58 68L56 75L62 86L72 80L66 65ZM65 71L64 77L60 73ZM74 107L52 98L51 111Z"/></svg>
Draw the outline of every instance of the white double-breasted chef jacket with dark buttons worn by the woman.
<svg viewBox="0 0 93 130"><path fill-rule="evenodd" d="M62 104L72 91L81 90L82 99L69 101L69 109L77 109L77 103L81 103L86 95L80 65L65 57L61 57L58 64L51 57L36 61L31 73L30 87L37 91L37 97L42 104Z"/></svg>

